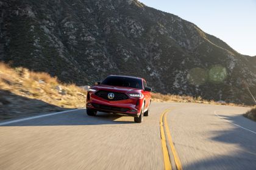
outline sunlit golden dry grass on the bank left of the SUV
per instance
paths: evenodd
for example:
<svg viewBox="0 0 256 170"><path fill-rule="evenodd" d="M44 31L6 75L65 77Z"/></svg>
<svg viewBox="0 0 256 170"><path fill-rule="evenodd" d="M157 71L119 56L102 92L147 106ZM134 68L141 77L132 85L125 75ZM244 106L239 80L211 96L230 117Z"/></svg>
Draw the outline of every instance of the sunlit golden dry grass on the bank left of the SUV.
<svg viewBox="0 0 256 170"><path fill-rule="evenodd" d="M87 95L84 89L60 83L48 73L31 72L23 67L13 69L4 63L0 63L0 90L65 108L84 107Z"/></svg>

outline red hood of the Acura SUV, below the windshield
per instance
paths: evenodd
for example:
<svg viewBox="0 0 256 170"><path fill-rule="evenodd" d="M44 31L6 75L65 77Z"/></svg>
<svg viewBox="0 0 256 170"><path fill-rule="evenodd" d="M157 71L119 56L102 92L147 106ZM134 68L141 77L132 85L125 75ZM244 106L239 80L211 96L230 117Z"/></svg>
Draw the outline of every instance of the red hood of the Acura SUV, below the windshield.
<svg viewBox="0 0 256 170"><path fill-rule="evenodd" d="M108 86L104 84L93 86L91 88L96 90L106 90L110 92L123 92L123 93L140 93L141 92L141 89L135 89L131 87Z"/></svg>

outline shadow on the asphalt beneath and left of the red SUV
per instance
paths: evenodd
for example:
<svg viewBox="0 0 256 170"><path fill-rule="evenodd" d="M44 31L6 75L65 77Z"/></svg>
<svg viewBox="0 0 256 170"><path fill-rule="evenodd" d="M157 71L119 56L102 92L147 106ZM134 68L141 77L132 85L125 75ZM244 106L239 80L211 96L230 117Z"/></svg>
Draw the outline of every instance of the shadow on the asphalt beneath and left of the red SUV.
<svg viewBox="0 0 256 170"><path fill-rule="evenodd" d="M96 117L86 114L86 109L67 112L64 114L51 115L48 117L35 118L4 126L75 126L97 124L129 124L134 123L133 117L107 114L98 112Z"/></svg>

